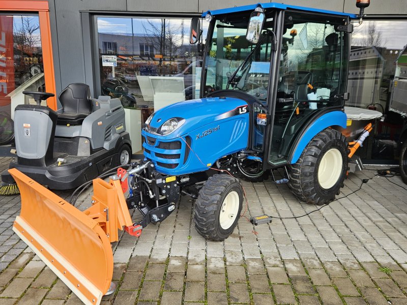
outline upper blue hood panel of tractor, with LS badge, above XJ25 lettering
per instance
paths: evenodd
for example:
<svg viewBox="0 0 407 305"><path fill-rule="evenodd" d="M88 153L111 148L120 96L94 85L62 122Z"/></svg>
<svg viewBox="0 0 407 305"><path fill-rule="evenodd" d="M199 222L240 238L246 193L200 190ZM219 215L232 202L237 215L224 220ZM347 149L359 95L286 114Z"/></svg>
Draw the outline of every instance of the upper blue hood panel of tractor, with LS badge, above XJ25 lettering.
<svg viewBox="0 0 407 305"><path fill-rule="evenodd" d="M171 118L177 118L179 121L185 119L178 129L166 136L162 136L162 139L173 139L197 128L216 123L220 119L246 112L249 112L247 103L237 98L221 97L183 101L154 112L150 124L143 130L157 135L165 121Z"/></svg>

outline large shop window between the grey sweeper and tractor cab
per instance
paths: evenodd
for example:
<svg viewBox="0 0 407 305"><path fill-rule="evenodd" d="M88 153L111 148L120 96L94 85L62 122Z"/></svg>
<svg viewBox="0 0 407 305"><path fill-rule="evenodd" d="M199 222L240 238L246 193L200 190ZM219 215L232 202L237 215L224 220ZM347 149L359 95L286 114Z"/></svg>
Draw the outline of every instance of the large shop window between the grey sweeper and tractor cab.
<svg viewBox="0 0 407 305"><path fill-rule="evenodd" d="M142 120L167 104L198 98L202 59L188 42L190 22L98 17L102 94L142 109ZM205 37L208 23L203 26Z"/></svg>

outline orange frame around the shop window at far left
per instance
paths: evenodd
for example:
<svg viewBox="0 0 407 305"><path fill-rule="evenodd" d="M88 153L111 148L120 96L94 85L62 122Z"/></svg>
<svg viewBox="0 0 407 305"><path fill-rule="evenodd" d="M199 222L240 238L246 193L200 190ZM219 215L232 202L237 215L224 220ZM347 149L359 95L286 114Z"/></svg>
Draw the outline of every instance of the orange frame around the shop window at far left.
<svg viewBox="0 0 407 305"><path fill-rule="evenodd" d="M1 1L1 12L30 12L38 13L44 65L45 88L47 92L56 93L54 78L54 63L52 58L51 27L49 23L49 9L47 1ZM47 99L47 104L53 110L57 109L56 98Z"/></svg>

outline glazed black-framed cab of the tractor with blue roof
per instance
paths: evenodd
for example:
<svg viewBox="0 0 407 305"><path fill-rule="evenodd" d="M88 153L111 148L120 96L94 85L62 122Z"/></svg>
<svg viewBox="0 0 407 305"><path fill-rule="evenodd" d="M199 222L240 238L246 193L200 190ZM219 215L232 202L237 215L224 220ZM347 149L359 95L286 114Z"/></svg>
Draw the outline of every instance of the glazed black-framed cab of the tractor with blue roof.
<svg viewBox="0 0 407 305"><path fill-rule="evenodd" d="M269 3L202 16L210 26L201 98L247 102L248 148L268 161L265 169L296 162L307 126L342 111L351 14Z"/></svg>

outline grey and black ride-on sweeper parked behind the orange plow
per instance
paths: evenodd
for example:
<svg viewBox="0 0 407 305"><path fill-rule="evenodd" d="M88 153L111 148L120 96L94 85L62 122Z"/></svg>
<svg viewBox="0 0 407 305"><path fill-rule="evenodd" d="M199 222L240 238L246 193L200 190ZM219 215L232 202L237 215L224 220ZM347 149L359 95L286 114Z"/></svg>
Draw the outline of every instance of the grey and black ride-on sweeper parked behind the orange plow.
<svg viewBox="0 0 407 305"><path fill-rule="evenodd" d="M131 142L119 99L92 99L89 86L70 84L60 94L62 108L41 106L53 94L23 92L37 105L19 105L14 114L17 168L54 190L76 188L108 169L126 165ZM14 179L2 173L0 195L18 194Z"/></svg>

